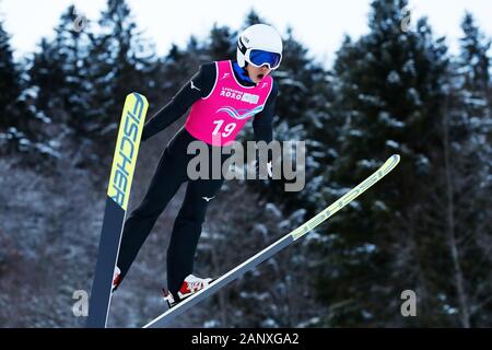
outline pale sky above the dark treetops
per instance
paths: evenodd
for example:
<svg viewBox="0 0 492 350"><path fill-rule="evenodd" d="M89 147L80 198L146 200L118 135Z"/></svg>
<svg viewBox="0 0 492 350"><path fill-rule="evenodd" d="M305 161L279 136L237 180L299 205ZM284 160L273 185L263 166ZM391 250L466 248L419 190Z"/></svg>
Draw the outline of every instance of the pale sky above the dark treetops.
<svg viewBox="0 0 492 350"><path fill-rule="evenodd" d="M44 36L52 36L61 13L70 5L96 21L106 0L0 0L0 20L12 36L15 57L33 52ZM172 43L186 44L191 34L206 36L213 23L237 30L255 9L260 16L284 33L288 25L313 57L332 61L344 34L353 38L367 32L370 0L127 0L145 37L165 55ZM465 10L476 16L481 30L492 36L492 0L410 0L412 23L429 16L437 35L445 35L452 51L458 47Z"/></svg>

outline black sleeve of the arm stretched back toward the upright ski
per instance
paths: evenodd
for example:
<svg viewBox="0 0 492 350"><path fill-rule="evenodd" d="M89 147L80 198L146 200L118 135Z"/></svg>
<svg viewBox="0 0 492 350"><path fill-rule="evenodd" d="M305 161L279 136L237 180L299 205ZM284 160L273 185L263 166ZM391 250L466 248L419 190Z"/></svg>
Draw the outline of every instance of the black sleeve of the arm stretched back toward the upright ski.
<svg viewBox="0 0 492 350"><path fill-rule="evenodd" d="M215 83L215 63L202 65L200 70L179 90L171 102L145 124L142 141L147 141L155 133L167 128L179 119L198 98L210 94Z"/></svg>

